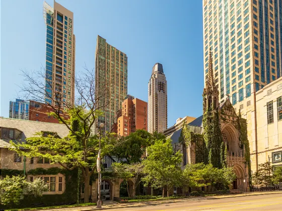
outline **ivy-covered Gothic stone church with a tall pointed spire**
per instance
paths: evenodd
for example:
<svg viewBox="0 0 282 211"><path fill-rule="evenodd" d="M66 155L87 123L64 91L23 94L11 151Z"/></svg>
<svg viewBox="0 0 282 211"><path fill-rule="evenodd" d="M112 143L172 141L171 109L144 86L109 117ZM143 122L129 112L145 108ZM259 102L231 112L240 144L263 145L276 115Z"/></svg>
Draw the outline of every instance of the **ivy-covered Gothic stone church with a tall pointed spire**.
<svg viewBox="0 0 282 211"><path fill-rule="evenodd" d="M211 53L208 67L203 90L203 115L185 124L169 137L175 151L180 150L183 154L183 168L187 164L198 162L209 162L216 167L230 166L237 175L231 188L249 190L250 152L246 120L241 118L240 112L239 115L236 114L229 97L219 104ZM189 135L185 136L184 133Z"/></svg>

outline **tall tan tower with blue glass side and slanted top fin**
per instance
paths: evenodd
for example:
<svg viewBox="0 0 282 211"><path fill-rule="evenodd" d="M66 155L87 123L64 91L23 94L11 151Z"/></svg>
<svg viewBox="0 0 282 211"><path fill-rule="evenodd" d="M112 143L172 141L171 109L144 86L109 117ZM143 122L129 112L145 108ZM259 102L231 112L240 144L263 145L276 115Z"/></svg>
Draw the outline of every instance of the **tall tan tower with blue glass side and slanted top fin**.
<svg viewBox="0 0 282 211"><path fill-rule="evenodd" d="M46 87L45 102L75 102L74 13L54 1L54 8L43 4L46 24Z"/></svg>

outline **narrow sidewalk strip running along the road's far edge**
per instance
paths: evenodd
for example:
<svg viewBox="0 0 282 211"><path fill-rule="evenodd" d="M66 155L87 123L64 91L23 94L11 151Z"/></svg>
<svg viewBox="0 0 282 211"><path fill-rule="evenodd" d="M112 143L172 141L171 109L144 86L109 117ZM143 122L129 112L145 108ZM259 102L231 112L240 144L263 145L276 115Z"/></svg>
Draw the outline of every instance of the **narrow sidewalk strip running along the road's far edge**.
<svg viewBox="0 0 282 211"><path fill-rule="evenodd" d="M269 192L249 192L249 195L263 195L263 194L276 194L282 193L282 191L269 191ZM137 206L150 206L150 205L158 205L163 203L175 203L175 202L183 202L183 201L194 201L194 200L210 200L210 199L220 199L220 198L231 198L231 197L242 197L246 196L245 193L239 194L229 194L229 195L216 195L216 196L197 196L190 198L179 198L179 199L169 199L169 200L157 200L157 201L142 201L142 202L128 202L128 203L117 203L115 201L105 201L102 205L102 209L97 209L96 206L78 206L74 208L59 208L59 209L43 209L45 211L91 211L91 210L104 210L104 209L113 209L113 208L123 208L123 207L137 207Z"/></svg>

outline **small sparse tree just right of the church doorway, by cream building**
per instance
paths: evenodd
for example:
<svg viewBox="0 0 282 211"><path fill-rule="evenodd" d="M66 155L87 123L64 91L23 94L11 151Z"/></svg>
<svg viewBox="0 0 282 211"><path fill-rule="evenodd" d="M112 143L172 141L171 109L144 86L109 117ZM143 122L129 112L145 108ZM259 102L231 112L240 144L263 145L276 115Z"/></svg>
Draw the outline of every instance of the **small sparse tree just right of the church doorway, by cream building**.
<svg viewBox="0 0 282 211"><path fill-rule="evenodd" d="M258 165L258 170L253 175L253 183L255 185L270 185L271 184L272 168L269 162Z"/></svg>

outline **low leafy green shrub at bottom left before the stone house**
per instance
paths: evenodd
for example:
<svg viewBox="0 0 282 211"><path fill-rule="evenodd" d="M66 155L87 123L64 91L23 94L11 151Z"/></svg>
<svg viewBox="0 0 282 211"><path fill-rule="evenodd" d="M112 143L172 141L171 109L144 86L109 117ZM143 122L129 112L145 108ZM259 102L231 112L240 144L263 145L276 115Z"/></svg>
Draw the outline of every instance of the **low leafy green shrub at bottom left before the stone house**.
<svg viewBox="0 0 282 211"><path fill-rule="evenodd" d="M17 204L24 198L24 194L42 196L43 192L47 190L48 185L41 178L28 182L25 177L6 176L0 180L0 202L4 205Z"/></svg>

